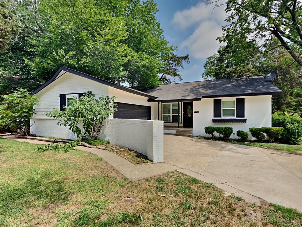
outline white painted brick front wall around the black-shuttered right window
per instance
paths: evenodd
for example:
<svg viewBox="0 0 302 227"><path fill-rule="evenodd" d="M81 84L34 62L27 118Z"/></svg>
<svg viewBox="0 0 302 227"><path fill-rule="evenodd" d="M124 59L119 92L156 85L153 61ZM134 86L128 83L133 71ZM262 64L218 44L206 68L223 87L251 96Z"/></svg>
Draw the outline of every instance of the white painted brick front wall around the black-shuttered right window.
<svg viewBox="0 0 302 227"><path fill-rule="evenodd" d="M193 102L193 135L205 136L205 126L230 126L233 127L233 134L231 138L236 137L237 130L249 132L251 127L271 127L271 95L264 96L243 96L243 97L229 97L221 98L222 100L233 100L236 98L245 98L245 117L246 123L213 123L212 118L214 114L213 100L214 98L204 98L201 101ZM218 99L218 98L215 98ZM250 135L250 139L252 136Z"/></svg>

